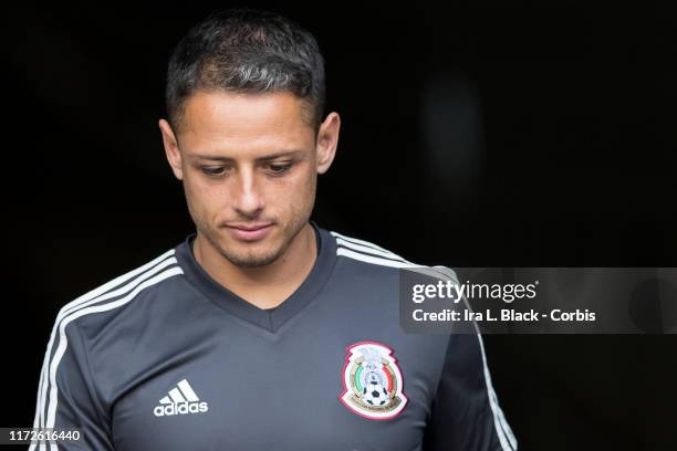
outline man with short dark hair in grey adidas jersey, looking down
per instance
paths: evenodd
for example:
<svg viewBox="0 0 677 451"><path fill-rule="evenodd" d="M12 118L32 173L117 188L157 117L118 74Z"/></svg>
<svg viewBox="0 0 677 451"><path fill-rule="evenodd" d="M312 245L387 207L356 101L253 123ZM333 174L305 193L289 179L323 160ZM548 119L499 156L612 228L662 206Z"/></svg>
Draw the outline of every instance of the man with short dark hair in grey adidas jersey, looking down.
<svg viewBox="0 0 677 451"><path fill-rule="evenodd" d="M216 13L179 42L159 128L197 233L61 310L34 426L84 441L52 449L517 449L479 335L405 334L414 265L310 221L323 107L285 18Z"/></svg>

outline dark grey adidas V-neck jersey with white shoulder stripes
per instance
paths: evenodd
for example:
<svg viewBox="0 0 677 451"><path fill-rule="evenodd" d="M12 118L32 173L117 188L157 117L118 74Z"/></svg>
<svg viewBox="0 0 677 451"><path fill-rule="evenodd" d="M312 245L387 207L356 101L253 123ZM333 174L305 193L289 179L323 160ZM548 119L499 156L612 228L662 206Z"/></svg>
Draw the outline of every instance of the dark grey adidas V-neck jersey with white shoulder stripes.
<svg viewBox="0 0 677 451"><path fill-rule="evenodd" d="M192 240L66 304L35 427L60 450L517 450L479 334L405 334L407 262L313 224L317 259L256 307L197 263Z"/></svg>

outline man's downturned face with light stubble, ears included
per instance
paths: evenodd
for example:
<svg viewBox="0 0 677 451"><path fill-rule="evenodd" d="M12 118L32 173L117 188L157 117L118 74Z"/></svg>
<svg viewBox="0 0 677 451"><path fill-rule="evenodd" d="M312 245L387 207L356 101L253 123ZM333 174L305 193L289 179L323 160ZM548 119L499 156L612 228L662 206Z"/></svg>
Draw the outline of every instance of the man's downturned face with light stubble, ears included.
<svg viewBox="0 0 677 451"><path fill-rule="evenodd" d="M327 116L315 135L290 93L197 92L184 104L178 135L164 119L160 129L198 233L232 264L250 268L280 258L308 223L338 116Z"/></svg>

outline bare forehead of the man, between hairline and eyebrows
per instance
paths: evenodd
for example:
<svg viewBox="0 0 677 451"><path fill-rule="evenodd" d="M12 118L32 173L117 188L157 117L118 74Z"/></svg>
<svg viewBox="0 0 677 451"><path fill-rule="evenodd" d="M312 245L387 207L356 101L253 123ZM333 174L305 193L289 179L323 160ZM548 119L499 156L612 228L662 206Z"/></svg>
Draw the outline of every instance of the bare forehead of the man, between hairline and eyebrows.
<svg viewBox="0 0 677 451"><path fill-rule="evenodd" d="M309 139L303 101L291 93L198 91L184 104L179 140L189 153L279 150Z"/></svg>

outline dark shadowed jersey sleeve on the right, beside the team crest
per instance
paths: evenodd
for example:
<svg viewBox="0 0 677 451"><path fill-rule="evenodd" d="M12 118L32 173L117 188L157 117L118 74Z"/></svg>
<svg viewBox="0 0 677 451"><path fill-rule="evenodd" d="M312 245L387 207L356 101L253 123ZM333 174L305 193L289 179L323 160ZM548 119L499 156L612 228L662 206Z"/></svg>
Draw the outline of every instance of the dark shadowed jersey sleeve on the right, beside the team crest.
<svg viewBox="0 0 677 451"><path fill-rule="evenodd" d="M425 451L517 451L479 334L451 334L424 433Z"/></svg>

